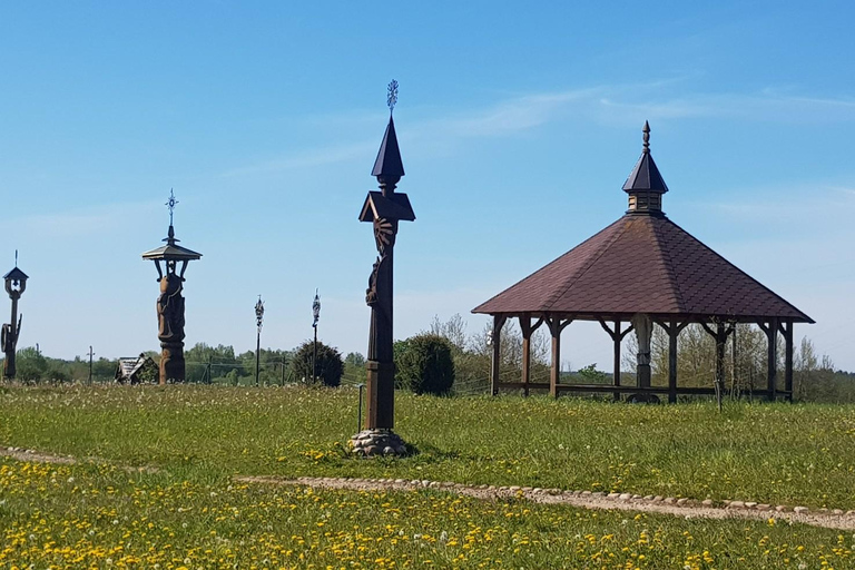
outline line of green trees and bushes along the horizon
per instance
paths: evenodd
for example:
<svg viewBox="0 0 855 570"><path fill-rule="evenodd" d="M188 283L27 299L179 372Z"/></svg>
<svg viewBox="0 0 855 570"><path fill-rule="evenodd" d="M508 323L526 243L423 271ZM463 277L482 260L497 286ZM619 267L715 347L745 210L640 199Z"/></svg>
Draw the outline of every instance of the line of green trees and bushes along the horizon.
<svg viewBox="0 0 855 570"><path fill-rule="evenodd" d="M461 315L448 321L434 317L419 334L394 345L396 387L415 393L445 395L485 394L490 389L492 361L491 326L470 333ZM784 346L778 336L779 387L783 387ZM635 374L635 335L627 336L621 365L625 384ZM159 354L146 353L154 364ZM342 356L337 348L318 342L315 371L312 368L313 343L306 341L293 350L262 348L259 353L263 385L318 382L330 386L365 382L365 358L358 352ZM766 336L753 325L736 325L726 346L726 384L730 397L751 397L766 385ZM252 385L255 384L255 352L236 353L233 346L198 343L185 351L187 382ZM678 341L678 379L685 386L711 386L715 375L715 340L700 325L687 326ZM111 382L117 360L98 358L91 364L92 382ZM531 338L531 381L549 379L550 337L542 328ZM522 334L509 321L501 332L500 379L518 382L522 375ZM655 327L651 341L653 385L668 383L668 337ZM156 381L157 370L149 372ZM33 347L18 352L18 380L38 382L87 382L89 362L43 356ZM561 371L561 382L611 382L611 374L590 363L576 371ZM855 402L855 374L835 370L827 355L817 354L813 342L803 338L794 355L794 400L810 402Z"/></svg>

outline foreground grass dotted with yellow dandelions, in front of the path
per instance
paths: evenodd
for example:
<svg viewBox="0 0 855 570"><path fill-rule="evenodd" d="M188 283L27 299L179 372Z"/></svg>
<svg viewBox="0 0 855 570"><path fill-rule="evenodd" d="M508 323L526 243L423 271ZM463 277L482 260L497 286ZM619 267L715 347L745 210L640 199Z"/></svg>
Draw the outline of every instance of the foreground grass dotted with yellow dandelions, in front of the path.
<svg viewBox="0 0 855 570"><path fill-rule="evenodd" d="M852 568L855 537L782 522L320 491L0 460L6 568Z"/></svg>

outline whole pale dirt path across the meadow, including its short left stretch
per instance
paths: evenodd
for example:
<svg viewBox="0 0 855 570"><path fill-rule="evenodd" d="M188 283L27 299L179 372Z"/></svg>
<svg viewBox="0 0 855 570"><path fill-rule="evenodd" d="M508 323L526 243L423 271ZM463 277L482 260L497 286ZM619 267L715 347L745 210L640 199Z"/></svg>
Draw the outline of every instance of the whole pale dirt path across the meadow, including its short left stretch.
<svg viewBox="0 0 855 570"><path fill-rule="evenodd" d="M56 455L21 448L0 445L0 456L12 458L17 461L37 463L56 463L71 465L81 461L70 455ZM86 458L82 462L110 463L98 458ZM156 473L154 466L122 465L129 472ZM542 504L567 504L583 509L611 509L633 512L653 512L682 517L685 519L749 519L798 522L813 527L855 531L855 511L812 512L796 507L775 510L769 505L735 502L730 505L701 505L697 501L680 499L677 503L672 498L642 498L629 493L603 494L590 491L561 491L558 489L531 489L519 487L464 485L461 483L440 483L436 481L406 481L403 479L346 479L346 478L311 478L284 479L277 476L236 476L236 481L245 483L262 483L276 485L306 485L324 489L347 489L354 491L415 491L433 490L462 494L475 499L495 501L508 499L525 499Z"/></svg>

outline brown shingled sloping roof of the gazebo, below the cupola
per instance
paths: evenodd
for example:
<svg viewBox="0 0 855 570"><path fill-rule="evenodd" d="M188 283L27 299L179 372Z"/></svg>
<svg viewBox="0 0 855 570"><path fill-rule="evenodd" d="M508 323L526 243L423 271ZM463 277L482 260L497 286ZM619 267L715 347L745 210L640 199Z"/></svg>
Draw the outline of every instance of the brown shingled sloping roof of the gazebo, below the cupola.
<svg viewBox="0 0 855 570"><path fill-rule="evenodd" d="M814 322L664 215L633 214L472 312Z"/></svg>

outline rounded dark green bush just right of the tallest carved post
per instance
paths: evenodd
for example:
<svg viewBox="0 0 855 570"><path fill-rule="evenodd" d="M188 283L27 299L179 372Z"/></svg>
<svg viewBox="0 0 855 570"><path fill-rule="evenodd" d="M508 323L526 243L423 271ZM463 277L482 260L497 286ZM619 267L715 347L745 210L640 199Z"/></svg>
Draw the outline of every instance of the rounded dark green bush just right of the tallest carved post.
<svg viewBox="0 0 855 570"><path fill-rule="evenodd" d="M420 334L395 343L395 386L416 394L443 395L454 384L451 343L435 334Z"/></svg>

